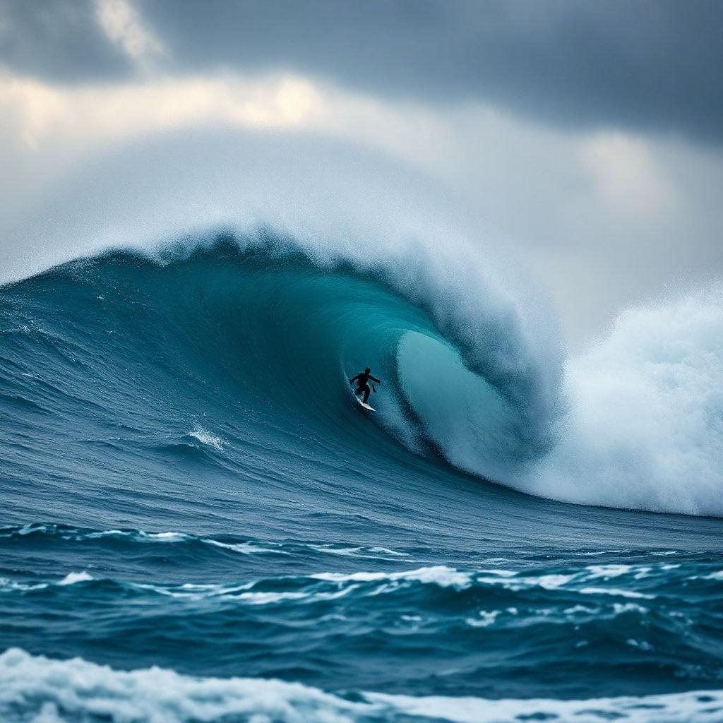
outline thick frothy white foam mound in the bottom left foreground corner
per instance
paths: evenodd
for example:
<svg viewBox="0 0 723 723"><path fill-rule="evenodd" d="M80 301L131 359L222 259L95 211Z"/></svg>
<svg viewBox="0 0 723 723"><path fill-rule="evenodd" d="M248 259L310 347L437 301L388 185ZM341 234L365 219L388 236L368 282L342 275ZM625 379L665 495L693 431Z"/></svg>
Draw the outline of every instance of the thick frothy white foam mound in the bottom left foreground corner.
<svg viewBox="0 0 723 723"><path fill-rule="evenodd" d="M5 723L351 723L381 708L279 680L196 678L156 667L124 672L79 658L31 656L19 649L0 655L0 717Z"/></svg>

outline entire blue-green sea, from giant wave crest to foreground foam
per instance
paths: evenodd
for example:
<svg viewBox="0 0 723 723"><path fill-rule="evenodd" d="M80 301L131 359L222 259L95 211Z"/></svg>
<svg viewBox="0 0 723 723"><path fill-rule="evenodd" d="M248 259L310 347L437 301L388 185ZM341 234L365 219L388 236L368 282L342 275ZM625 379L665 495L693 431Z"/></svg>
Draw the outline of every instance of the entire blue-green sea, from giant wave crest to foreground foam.
<svg viewBox="0 0 723 723"><path fill-rule="evenodd" d="M566 358L268 233L1 287L0 720L723 721L721 317Z"/></svg>

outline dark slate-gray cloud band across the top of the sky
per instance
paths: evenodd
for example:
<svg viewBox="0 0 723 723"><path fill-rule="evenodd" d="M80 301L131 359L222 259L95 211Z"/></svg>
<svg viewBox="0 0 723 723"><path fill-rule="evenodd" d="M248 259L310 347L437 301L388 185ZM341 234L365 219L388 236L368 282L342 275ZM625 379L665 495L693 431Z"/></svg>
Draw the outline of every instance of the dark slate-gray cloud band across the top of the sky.
<svg viewBox="0 0 723 723"><path fill-rule="evenodd" d="M7 64L64 80L129 72L87 4L4 7L12 28L0 50ZM168 48L172 71L290 70L397 98L488 101L562 126L723 140L717 0L144 0L137 7Z"/></svg>

